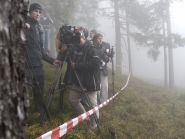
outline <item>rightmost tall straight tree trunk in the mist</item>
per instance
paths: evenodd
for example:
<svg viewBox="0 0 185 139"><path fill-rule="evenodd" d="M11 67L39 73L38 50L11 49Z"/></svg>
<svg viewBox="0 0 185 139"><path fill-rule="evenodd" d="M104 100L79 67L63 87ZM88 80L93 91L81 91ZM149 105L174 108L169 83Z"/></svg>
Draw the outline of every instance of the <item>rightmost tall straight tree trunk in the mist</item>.
<svg viewBox="0 0 185 139"><path fill-rule="evenodd" d="M171 22L170 22L169 8L170 8L169 0L166 0L167 33L168 33L168 56L169 56L169 88L174 88L173 48L172 48Z"/></svg>

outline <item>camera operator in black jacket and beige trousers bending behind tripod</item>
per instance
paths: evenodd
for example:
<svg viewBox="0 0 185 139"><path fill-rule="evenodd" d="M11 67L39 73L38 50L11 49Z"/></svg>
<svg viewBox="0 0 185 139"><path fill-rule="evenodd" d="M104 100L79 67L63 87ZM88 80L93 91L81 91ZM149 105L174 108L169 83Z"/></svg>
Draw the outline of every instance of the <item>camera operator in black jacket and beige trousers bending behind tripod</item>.
<svg viewBox="0 0 185 139"><path fill-rule="evenodd" d="M85 33L83 31L80 33L80 43L76 44L75 49L70 51L72 61L68 61L68 65L70 65L70 68L72 69L72 89L75 90L70 90L69 102L78 115L86 112L83 105L80 103L80 100L83 97L85 98L85 96L83 93L80 93L82 92L82 89L80 88L74 70L79 75L78 77L83 84L83 89L86 90L93 107L97 106L97 91L100 90L100 59L98 50L85 39ZM68 68L66 72L69 70L70 69ZM99 117L99 111L97 111L96 114L97 117ZM90 127L92 129L97 128L97 123L93 116L90 116Z"/></svg>

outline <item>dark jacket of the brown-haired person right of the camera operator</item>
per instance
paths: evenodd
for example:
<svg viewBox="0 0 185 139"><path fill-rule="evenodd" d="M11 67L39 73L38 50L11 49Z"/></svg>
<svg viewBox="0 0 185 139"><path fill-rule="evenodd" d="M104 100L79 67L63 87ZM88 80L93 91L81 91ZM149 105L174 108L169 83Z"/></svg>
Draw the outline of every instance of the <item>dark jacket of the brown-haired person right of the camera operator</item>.
<svg viewBox="0 0 185 139"><path fill-rule="evenodd" d="M107 63L109 62L109 59L106 60L105 55L108 55L108 53L110 53L110 52L106 51L106 49L108 49L110 51L110 44L106 43L106 42L102 42L102 45L100 45L100 46L98 46L96 44L94 44L94 45L97 47L99 55L100 55L100 60L101 60L100 70L103 71L103 74L105 76L108 76Z"/></svg>

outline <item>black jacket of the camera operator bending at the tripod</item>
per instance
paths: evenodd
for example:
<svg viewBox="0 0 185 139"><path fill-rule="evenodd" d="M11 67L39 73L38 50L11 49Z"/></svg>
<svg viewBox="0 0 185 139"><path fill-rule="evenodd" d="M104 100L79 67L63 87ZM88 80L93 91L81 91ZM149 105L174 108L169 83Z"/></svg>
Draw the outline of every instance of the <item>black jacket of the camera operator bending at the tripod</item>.
<svg viewBox="0 0 185 139"><path fill-rule="evenodd" d="M91 45L89 41L86 41L82 47L73 46L70 48L71 60L75 63L75 71L79 75L83 87L87 91L100 90L100 58L96 47ZM59 58L62 61L62 58ZM68 82L72 82L79 86L79 82L73 70L71 70L71 61L68 59L68 67L65 74L65 79ZM71 74L71 75L70 75ZM69 79L69 78L72 78ZM70 81L69 81L70 80Z"/></svg>

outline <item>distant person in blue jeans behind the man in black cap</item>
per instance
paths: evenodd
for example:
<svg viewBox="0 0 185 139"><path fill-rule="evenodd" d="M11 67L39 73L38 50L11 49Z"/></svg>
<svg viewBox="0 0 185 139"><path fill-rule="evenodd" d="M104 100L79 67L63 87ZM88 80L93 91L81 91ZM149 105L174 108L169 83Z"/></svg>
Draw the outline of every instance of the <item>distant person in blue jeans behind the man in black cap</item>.
<svg viewBox="0 0 185 139"><path fill-rule="evenodd" d="M46 52L46 54L49 53L49 25L53 23L53 20L51 19L51 17L49 16L49 14L47 13L47 11L43 11L43 16L40 17L39 20L40 24L43 27L43 45L44 45L44 51Z"/></svg>

